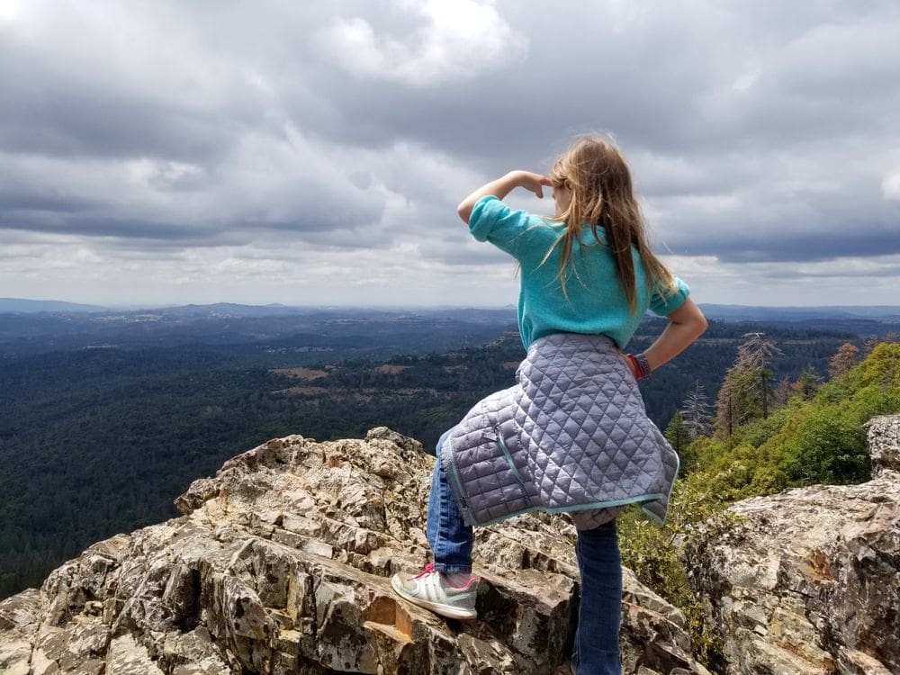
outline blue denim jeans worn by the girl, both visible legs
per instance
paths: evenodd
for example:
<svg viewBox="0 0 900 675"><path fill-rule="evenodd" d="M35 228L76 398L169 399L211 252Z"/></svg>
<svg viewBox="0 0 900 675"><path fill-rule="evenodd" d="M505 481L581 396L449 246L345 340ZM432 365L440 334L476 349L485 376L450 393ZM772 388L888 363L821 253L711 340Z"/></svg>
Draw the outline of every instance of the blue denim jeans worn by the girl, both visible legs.
<svg viewBox="0 0 900 675"><path fill-rule="evenodd" d="M449 432L447 432L449 433ZM456 506L437 442L437 464L428 497L428 544L437 572L472 572L472 527ZM620 675L619 623L622 618L622 562L618 531L612 520L592 530L579 530L575 544L581 574L581 603L572 663L578 675Z"/></svg>

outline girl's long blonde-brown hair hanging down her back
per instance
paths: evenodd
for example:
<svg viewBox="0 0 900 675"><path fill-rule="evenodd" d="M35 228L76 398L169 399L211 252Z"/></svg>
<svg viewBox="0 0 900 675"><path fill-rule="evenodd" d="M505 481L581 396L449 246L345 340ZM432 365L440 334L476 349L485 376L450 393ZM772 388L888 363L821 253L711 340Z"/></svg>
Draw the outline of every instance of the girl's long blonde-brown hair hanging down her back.
<svg viewBox="0 0 900 675"><path fill-rule="evenodd" d="M559 246L562 249L559 277L563 293L568 276L567 267L570 264L572 273L578 276L572 260L572 246L576 240L580 245L583 243L581 225L585 223L590 224L594 238L599 243L605 243L612 251L619 284L632 314L637 311L632 246L637 247L641 255L651 290L665 291L673 287L675 282L671 272L653 255L647 242L644 218L635 199L631 172L625 157L615 144L597 136L578 139L556 160L549 178L554 187L568 188L572 192L569 206L551 219L566 225L553 247ZM598 226L603 227L606 242L599 238Z"/></svg>

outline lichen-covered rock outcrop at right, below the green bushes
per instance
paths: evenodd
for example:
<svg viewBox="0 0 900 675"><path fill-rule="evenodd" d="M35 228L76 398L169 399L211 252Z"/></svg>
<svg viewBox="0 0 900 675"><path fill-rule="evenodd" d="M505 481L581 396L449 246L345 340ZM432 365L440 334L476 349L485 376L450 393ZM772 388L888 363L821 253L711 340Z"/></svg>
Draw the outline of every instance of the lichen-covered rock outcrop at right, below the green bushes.
<svg viewBox="0 0 900 675"><path fill-rule="evenodd" d="M868 427L873 480L743 500L686 550L726 673L900 673L900 417Z"/></svg>

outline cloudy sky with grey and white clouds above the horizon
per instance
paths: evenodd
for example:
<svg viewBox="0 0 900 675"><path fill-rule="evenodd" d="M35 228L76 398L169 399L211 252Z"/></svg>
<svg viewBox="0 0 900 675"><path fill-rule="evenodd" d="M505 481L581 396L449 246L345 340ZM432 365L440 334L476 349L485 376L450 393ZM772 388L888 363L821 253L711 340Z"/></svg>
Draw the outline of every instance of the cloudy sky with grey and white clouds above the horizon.
<svg viewBox="0 0 900 675"><path fill-rule="evenodd" d="M510 304L456 203L599 130L698 302L900 304L898 73L895 0L0 0L0 296Z"/></svg>

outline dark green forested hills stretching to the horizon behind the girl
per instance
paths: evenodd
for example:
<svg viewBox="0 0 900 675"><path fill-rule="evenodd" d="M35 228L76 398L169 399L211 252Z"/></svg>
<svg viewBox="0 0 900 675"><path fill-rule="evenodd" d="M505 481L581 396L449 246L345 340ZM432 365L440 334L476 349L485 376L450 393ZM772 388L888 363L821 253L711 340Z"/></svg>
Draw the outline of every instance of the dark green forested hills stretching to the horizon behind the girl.
<svg viewBox="0 0 900 675"><path fill-rule="evenodd" d="M433 446L475 401L509 386L524 356L508 313L463 314L459 332L450 316L384 313L279 316L284 332L263 334L273 324L253 317L181 316L175 337L156 320L113 322L104 338L56 335L41 321L69 319L31 317L34 340L2 323L4 344L21 348L0 360L0 597L39 583L91 542L172 517L172 500L193 479L268 438L361 437L390 426ZM223 322L227 339L203 339ZM662 325L647 320L631 348ZM642 383L661 427L697 383L715 398L748 330L764 330L785 355L773 362L773 382L806 367L824 376L843 342L863 347L844 330L713 322Z"/></svg>

